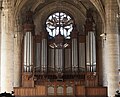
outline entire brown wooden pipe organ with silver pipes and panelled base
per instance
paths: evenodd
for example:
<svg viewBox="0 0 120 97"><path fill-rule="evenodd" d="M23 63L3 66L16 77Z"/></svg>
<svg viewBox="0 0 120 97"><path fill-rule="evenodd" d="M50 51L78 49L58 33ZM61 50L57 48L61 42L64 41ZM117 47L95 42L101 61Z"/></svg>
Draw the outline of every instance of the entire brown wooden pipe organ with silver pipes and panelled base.
<svg viewBox="0 0 120 97"><path fill-rule="evenodd" d="M23 28L22 87L14 88L16 96L107 97L107 88L98 82L95 22L91 10L86 16L86 34L78 35L74 26L71 39L65 40L58 34L50 40L47 32L35 35L31 11L26 14ZM68 45L55 47L54 42Z"/></svg>

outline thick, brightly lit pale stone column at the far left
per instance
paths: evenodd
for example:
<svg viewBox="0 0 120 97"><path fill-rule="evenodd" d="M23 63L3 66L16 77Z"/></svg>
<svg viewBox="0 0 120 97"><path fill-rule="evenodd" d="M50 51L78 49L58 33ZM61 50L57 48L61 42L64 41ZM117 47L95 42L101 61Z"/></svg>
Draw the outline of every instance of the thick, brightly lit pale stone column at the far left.
<svg viewBox="0 0 120 97"><path fill-rule="evenodd" d="M9 3L9 5L8 5ZM4 0L1 16L1 92L13 90L13 13L10 2Z"/></svg>

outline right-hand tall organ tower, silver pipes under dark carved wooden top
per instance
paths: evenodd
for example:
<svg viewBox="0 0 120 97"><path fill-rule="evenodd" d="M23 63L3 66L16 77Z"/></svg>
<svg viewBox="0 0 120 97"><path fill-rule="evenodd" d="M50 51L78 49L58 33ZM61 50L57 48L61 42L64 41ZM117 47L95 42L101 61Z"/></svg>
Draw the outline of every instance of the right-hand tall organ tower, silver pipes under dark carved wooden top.
<svg viewBox="0 0 120 97"><path fill-rule="evenodd" d="M96 71L96 40L95 40L95 21L93 19L93 11L87 10L86 14L86 66L87 71Z"/></svg>

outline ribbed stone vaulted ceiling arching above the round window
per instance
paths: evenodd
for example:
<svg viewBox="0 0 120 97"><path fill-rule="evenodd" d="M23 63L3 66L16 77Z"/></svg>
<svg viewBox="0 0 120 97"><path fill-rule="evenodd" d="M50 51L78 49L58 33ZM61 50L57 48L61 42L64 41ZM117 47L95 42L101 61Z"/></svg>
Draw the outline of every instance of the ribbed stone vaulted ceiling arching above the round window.
<svg viewBox="0 0 120 97"><path fill-rule="evenodd" d="M101 8L103 7L103 2L98 0L97 2L93 2L93 0L16 0L15 6L18 7L19 10L28 10L31 9L34 11L34 13L37 13L39 10L44 8L47 5L51 5L52 3L55 4L55 2L61 2L61 5L66 3L69 6L73 6L77 9L79 9L84 15L86 13L86 10L89 8L92 8L93 10L96 10L95 3L98 3ZM54 5L56 6L56 5ZM63 6L66 6L65 4ZM98 7L99 7L98 6ZM19 11L17 11L19 12Z"/></svg>

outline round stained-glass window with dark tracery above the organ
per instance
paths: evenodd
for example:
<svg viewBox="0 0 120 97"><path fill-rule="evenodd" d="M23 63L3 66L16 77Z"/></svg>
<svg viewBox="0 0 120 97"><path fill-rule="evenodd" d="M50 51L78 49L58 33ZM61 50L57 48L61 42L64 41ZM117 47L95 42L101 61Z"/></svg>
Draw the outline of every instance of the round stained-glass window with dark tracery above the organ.
<svg viewBox="0 0 120 97"><path fill-rule="evenodd" d="M66 12L56 11L47 17L45 25L45 29L49 33L48 39L53 39L58 34L64 36L65 39L70 39L70 34L73 31L74 19ZM49 26L51 26L51 28Z"/></svg>

